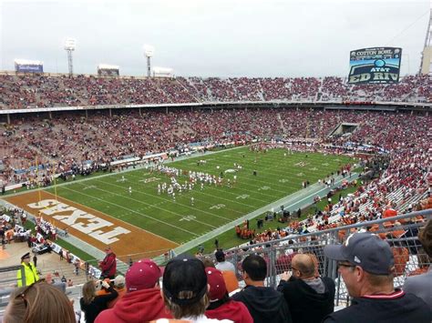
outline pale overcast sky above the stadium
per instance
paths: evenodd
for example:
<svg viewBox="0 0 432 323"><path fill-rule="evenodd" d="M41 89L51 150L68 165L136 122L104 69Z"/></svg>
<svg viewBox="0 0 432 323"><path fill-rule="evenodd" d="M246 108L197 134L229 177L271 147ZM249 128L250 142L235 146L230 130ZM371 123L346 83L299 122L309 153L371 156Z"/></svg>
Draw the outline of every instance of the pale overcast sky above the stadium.
<svg viewBox="0 0 432 323"><path fill-rule="evenodd" d="M120 74L152 66L177 76L347 76L349 51L402 47L401 75L416 74L430 0L0 0L0 69L40 60L67 73L67 37L77 39L74 73L98 64Z"/></svg>

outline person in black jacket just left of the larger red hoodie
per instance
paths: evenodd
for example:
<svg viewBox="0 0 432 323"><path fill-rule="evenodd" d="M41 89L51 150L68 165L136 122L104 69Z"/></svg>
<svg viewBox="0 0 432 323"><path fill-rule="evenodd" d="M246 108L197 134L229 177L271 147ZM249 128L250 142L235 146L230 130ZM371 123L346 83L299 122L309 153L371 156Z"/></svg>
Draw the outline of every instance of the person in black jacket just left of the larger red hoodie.
<svg viewBox="0 0 432 323"><path fill-rule="evenodd" d="M118 297L117 290L112 288L105 280L102 281L102 287L107 289L108 294L97 295L95 285L95 281L87 281L83 286L83 297L79 299L79 305L85 314L87 323L93 323L99 313L107 309L108 302Z"/></svg>

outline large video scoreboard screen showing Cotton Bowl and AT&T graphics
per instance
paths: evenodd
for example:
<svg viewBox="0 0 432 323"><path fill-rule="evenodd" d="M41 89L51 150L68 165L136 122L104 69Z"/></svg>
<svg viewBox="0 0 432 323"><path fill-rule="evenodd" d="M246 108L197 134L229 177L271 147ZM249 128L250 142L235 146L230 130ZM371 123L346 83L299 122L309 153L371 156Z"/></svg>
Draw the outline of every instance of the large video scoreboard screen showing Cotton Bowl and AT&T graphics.
<svg viewBox="0 0 432 323"><path fill-rule="evenodd" d="M399 82L402 48L373 47L350 52L349 84L391 84Z"/></svg>

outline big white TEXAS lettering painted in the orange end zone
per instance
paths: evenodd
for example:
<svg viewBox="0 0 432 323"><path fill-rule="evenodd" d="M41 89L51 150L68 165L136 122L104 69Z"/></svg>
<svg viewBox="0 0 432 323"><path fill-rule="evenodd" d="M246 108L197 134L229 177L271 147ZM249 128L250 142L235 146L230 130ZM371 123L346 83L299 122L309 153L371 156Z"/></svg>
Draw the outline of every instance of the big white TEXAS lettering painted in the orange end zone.
<svg viewBox="0 0 432 323"><path fill-rule="evenodd" d="M101 228L112 227L113 224L103 218L95 217L92 214L77 209L77 207L70 207L65 203L58 202L55 199L43 199L40 202L27 204L27 206L36 208L42 215L54 217L67 226L74 227L106 245L118 241L117 236L130 233L124 227L114 227L111 231L103 232ZM85 219L87 223L77 222L77 220L82 219Z"/></svg>

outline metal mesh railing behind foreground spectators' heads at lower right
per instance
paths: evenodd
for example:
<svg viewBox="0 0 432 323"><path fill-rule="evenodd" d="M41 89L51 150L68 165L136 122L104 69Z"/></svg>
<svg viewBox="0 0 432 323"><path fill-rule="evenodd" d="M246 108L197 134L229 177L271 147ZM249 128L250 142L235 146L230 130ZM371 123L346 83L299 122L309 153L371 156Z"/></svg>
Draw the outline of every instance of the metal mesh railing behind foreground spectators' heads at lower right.
<svg viewBox="0 0 432 323"><path fill-rule="evenodd" d="M422 220L419 220L419 217ZM315 259L318 274L333 278L335 281L335 305L346 305L349 297L344 281L338 277L336 262L324 256L324 246L342 243L350 233L371 231L372 228L374 234L385 238L392 247L396 268L394 282L396 287L400 287L406 277L414 271L425 270L431 265L430 259L427 257L427 260L423 259L425 254L417 239L420 227L425 226L430 218L432 218L432 209L427 209L314 233L291 235L279 240L226 250L226 260L234 265L236 274L240 277L242 259L251 254L261 255L267 262L266 285L276 288L280 274L291 270L293 256L296 253L310 254Z"/></svg>

